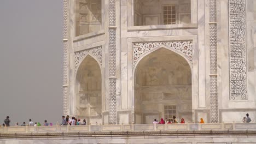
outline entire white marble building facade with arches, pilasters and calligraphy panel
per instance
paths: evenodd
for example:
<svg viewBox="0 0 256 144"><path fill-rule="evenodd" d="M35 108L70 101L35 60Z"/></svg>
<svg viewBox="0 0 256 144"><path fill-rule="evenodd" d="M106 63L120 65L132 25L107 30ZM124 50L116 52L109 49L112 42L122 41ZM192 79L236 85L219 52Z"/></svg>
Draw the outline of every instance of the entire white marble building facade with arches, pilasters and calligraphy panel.
<svg viewBox="0 0 256 144"><path fill-rule="evenodd" d="M65 115L256 121L255 0L63 1Z"/></svg>

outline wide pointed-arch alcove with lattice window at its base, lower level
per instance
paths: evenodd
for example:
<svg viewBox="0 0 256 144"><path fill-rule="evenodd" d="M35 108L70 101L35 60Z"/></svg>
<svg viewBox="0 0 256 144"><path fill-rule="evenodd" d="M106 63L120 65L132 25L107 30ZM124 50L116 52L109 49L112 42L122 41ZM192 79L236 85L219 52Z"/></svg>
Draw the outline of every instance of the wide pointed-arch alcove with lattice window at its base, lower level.
<svg viewBox="0 0 256 144"><path fill-rule="evenodd" d="M149 53L137 64L134 79L137 124L172 116L192 122L191 69L181 55L165 48Z"/></svg>

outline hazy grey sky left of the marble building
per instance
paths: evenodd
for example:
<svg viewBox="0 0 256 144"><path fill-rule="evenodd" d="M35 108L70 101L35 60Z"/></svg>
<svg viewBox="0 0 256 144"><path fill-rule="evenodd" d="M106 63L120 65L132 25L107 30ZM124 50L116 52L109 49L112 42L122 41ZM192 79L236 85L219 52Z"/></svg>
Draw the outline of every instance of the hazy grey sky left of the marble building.
<svg viewBox="0 0 256 144"><path fill-rule="evenodd" d="M0 124L62 116L62 0L0 1Z"/></svg>

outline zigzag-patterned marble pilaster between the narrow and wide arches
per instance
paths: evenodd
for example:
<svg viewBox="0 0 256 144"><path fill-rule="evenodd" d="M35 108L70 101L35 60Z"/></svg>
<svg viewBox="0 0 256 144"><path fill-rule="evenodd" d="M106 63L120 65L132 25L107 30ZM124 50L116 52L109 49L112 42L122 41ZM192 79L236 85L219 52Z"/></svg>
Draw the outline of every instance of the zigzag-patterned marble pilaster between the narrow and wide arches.
<svg viewBox="0 0 256 144"><path fill-rule="evenodd" d="M109 0L109 123L117 124L115 0Z"/></svg>

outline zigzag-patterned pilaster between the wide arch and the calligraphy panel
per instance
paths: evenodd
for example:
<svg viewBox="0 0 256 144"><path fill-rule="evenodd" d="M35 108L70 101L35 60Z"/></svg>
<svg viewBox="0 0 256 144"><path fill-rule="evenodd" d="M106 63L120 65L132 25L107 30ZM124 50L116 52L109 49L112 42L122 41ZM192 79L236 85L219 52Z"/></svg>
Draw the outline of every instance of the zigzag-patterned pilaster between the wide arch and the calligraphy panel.
<svg viewBox="0 0 256 144"><path fill-rule="evenodd" d="M210 0L210 122L218 122L216 0Z"/></svg>

